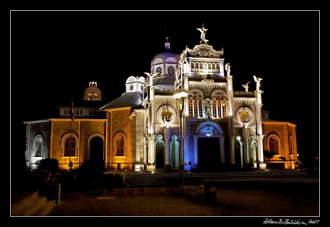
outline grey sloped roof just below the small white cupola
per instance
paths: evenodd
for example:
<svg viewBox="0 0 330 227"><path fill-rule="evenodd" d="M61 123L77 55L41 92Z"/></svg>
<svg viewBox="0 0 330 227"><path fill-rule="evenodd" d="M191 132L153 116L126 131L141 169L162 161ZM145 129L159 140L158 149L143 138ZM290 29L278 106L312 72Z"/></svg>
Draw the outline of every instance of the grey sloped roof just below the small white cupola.
<svg viewBox="0 0 330 227"><path fill-rule="evenodd" d="M137 107L137 106L141 106L141 107L143 106L143 93L130 92L123 94L119 98L101 107L100 110L115 109L122 107Z"/></svg>

